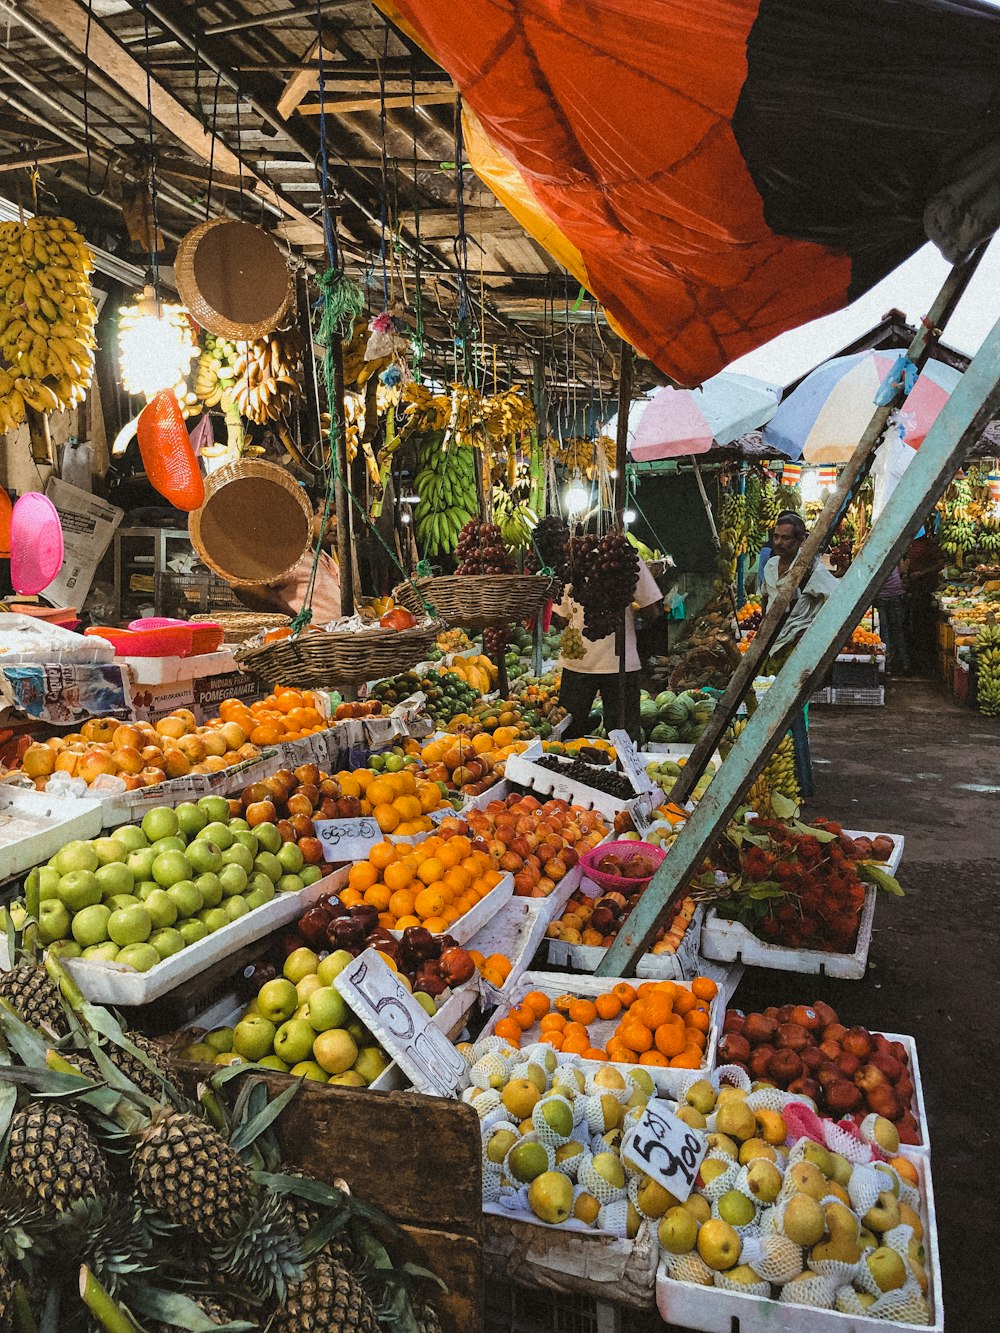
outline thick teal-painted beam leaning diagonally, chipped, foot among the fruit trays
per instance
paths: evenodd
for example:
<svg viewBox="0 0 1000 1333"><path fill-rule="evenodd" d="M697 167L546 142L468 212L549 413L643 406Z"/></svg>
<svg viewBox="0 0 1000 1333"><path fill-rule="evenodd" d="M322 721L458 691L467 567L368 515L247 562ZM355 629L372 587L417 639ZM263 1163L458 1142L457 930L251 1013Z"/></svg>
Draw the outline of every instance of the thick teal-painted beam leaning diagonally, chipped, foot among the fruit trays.
<svg viewBox="0 0 1000 1333"><path fill-rule="evenodd" d="M740 733L715 781L681 828L671 854L649 882L597 966L604 977L631 976L671 900L687 890L743 793L764 768L788 721L836 657L844 633L857 624L892 567L955 476L968 447L980 437L1000 403L1000 323L987 337L961 383L941 408L913 461L872 525L868 541L837 583Z"/></svg>

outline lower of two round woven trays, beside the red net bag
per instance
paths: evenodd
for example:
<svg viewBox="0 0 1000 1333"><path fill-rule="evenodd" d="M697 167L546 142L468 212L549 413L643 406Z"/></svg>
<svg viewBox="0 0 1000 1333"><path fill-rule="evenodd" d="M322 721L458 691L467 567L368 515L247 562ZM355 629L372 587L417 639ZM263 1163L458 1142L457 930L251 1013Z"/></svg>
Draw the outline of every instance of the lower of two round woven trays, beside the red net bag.
<svg viewBox="0 0 1000 1333"><path fill-rule="evenodd" d="M237 459L205 481L188 533L209 569L233 588L253 588L277 583L311 548L312 507L276 463Z"/></svg>

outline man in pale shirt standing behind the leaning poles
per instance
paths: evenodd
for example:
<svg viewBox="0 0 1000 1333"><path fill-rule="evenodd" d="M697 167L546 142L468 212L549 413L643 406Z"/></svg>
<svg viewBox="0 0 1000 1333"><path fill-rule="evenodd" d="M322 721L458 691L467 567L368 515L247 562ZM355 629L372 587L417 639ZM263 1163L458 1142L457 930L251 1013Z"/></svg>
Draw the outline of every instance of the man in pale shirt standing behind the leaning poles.
<svg viewBox="0 0 1000 1333"><path fill-rule="evenodd" d="M768 603L777 596L779 588L788 577L788 572L795 564L808 528L801 515L787 511L775 520L775 529L771 535L771 549L773 555L764 565L764 583L760 589L761 609L767 612ZM771 648L771 656L761 666L765 676L776 676L788 661L792 649L816 619L827 597L837 587L837 580L820 564L813 560L809 573L803 580L799 591L788 609L784 624L777 632L777 637ZM792 744L795 746L795 772L799 781L799 790L804 797L813 794L812 756L809 754L809 732L805 709L796 709L792 717Z"/></svg>

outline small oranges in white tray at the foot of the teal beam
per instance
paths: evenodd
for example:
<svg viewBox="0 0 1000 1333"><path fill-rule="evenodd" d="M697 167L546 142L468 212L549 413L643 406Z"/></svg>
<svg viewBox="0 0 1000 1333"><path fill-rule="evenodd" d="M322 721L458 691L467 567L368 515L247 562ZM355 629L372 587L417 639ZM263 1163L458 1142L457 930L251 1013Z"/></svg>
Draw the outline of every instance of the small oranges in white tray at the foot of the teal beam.
<svg viewBox="0 0 1000 1333"><path fill-rule="evenodd" d="M553 981L556 978L552 978ZM711 977L676 981L617 981L603 994L565 992L515 1004L492 1026L515 1050L540 1042L581 1060L659 1069L701 1069L712 1032ZM541 1001L545 1001L543 1009Z"/></svg>

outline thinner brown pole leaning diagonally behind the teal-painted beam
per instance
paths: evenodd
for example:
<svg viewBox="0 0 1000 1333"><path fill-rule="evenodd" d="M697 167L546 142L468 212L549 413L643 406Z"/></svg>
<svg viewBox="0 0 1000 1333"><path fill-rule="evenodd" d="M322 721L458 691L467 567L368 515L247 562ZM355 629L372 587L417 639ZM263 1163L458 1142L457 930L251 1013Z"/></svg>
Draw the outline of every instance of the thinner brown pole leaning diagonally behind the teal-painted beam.
<svg viewBox="0 0 1000 1333"><path fill-rule="evenodd" d="M927 319L921 323L913 336L913 341L909 344L907 356L915 365L923 367L931 356L941 335L941 325L948 321L948 317L961 299L983 255L984 248L980 248L965 264L956 264L944 280ZM776 596L768 604L757 633L753 636L749 648L733 672L725 693L719 700L719 706L709 717L708 725L695 744L695 749L691 752L681 776L673 785L672 800L685 801L695 789L699 777L704 773L708 760L719 746L723 732L736 716L736 710L743 702L747 690L753 684L753 678L760 670L760 664L771 652L771 645L777 637L781 623L799 595L800 584L808 576L808 571L812 569L816 557L825 549L836 529L841 511L849 504L856 488L867 476L875 447L881 439L891 413L904 400L904 391L899 389L892 403L875 409L857 448L841 472L836 488L831 492L823 513L803 543ZM853 629L853 625L851 628Z"/></svg>

